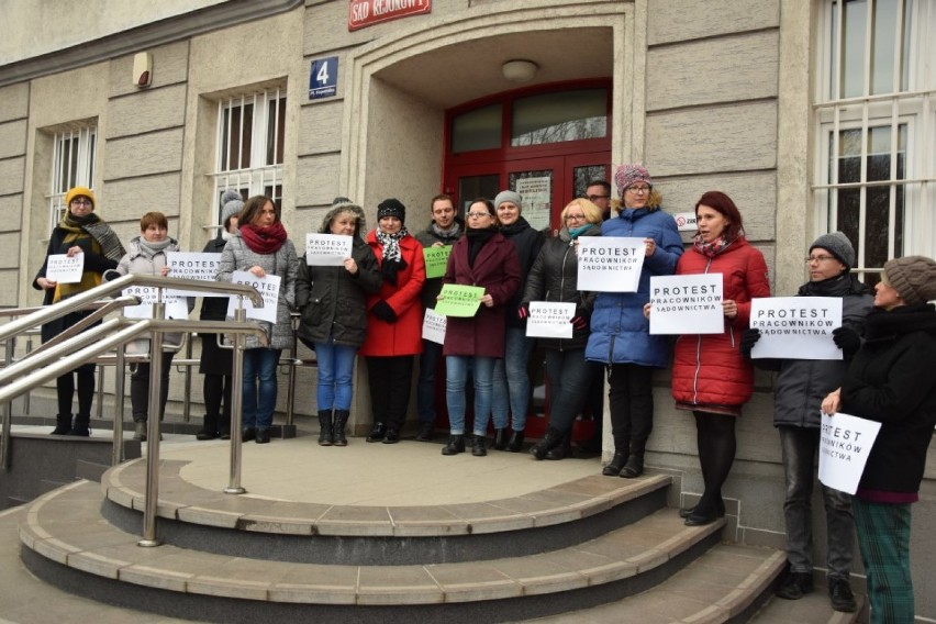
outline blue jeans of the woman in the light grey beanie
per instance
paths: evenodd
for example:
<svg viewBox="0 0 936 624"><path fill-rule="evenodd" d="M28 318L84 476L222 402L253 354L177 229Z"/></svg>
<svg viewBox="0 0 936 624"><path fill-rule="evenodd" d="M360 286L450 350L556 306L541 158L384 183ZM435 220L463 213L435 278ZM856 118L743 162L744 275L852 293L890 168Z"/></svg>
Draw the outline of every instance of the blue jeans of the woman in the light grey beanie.
<svg viewBox="0 0 936 624"><path fill-rule="evenodd" d="M504 339L504 358L494 366L493 416L495 428L506 428L508 415L513 415L514 431L526 426L530 405L530 354L535 341L526 337L526 330L508 327Z"/></svg>

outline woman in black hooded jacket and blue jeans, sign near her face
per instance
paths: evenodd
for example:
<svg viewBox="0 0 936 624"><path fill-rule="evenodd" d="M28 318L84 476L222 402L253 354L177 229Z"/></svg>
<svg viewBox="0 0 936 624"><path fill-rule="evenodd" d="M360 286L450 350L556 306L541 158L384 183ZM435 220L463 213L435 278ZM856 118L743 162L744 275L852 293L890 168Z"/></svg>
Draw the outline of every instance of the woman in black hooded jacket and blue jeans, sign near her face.
<svg viewBox="0 0 936 624"><path fill-rule="evenodd" d="M342 266L309 266L302 261L296 282L296 304L302 313L299 338L315 349L319 381L319 445L347 446L354 361L367 334L367 297L380 290L377 258L360 231L364 210L347 198L335 198L319 234L352 237L350 256Z"/></svg>

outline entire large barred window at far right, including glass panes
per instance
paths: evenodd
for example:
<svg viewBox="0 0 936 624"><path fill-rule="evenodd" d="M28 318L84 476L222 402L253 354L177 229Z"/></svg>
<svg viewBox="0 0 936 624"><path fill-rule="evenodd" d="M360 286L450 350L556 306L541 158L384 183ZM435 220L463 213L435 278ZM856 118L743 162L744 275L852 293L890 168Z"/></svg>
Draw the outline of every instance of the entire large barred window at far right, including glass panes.
<svg viewBox="0 0 936 624"><path fill-rule="evenodd" d="M936 253L936 0L832 0L820 14L814 116L820 231L857 270Z"/></svg>

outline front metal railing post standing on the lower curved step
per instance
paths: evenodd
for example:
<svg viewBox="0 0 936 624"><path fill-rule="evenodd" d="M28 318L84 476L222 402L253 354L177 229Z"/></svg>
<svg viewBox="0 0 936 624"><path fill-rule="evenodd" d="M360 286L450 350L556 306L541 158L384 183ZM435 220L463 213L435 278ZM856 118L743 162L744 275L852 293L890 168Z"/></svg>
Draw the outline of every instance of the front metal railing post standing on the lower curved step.
<svg viewBox="0 0 936 624"><path fill-rule="evenodd" d="M164 319L166 304L163 289L158 289L153 317ZM159 433L163 393L163 331L154 330L149 338L149 404L146 431L146 498L143 510L143 538L137 546L158 546L156 539L156 509L159 503Z"/></svg>

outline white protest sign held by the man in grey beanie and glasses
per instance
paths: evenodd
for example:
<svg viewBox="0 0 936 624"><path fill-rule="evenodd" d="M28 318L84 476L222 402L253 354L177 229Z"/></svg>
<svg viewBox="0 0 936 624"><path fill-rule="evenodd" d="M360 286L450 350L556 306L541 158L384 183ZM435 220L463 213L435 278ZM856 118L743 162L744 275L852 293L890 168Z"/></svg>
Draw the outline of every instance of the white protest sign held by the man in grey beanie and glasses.
<svg viewBox="0 0 936 624"><path fill-rule="evenodd" d="M753 299L750 326L760 339L750 357L842 359L832 331L842 326L839 297L772 297Z"/></svg>

